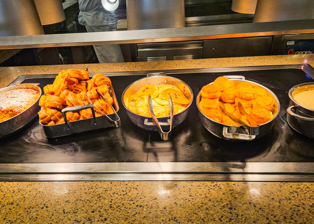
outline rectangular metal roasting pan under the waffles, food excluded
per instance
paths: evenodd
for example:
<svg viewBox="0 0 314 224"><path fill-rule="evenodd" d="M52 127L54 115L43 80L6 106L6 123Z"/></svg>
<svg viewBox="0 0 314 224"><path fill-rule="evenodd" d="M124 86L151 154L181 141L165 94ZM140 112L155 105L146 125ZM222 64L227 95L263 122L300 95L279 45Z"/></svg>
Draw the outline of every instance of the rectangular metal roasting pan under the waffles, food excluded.
<svg viewBox="0 0 314 224"><path fill-rule="evenodd" d="M118 101L116 99L116 94L115 94L112 86L110 86L109 93L110 93L111 97L113 98L113 102L114 102L115 108L113 108L111 106L111 109L113 109L114 114L111 114L111 115L102 114L100 117L96 117L94 105L91 104L91 102L90 102L90 104L87 104L87 105L69 107L69 108L62 109L61 112L62 112L65 123L57 124L57 125L42 125L39 122L39 124L43 127L44 132L48 138L66 136L66 135L71 135L71 134L75 134L75 133L79 133L79 132L91 131L91 130L96 130L96 129L100 129L100 128L112 127L112 126L113 127L119 127L119 126L121 126L121 120L120 120L120 117L116 113L116 111L119 110L119 105L118 105ZM107 99L102 94L100 94L100 93L98 93L98 94L99 94L101 99L105 100L109 104ZM87 99L88 99L88 97L87 97ZM109 104L109 105L111 105L111 104ZM71 121L71 122L67 121L67 117L66 117L67 112L74 112L74 111L84 110L84 109L88 109L88 108L90 108L92 110L92 114L93 114L92 118L87 118L87 119L83 119L83 120L76 120L76 121Z"/></svg>

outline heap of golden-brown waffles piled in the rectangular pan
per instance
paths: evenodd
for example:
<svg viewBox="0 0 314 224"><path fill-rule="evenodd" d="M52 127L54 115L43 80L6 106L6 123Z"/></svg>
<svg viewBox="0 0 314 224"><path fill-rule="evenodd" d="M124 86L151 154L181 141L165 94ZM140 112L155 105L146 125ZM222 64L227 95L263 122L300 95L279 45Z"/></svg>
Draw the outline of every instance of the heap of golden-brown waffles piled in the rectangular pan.
<svg viewBox="0 0 314 224"><path fill-rule="evenodd" d="M44 87L45 95L41 96L39 105L43 107L38 112L42 125L55 125L64 123L61 110L66 107L89 104L87 95L95 107L105 114L113 114L113 110L104 100L101 100L98 93L103 94L110 104L113 99L109 93L111 80L103 74L97 73L89 79L86 70L68 69L61 71L53 84ZM96 116L100 116L95 112ZM92 110L84 109L79 112L67 112L67 120L75 121L93 117Z"/></svg>

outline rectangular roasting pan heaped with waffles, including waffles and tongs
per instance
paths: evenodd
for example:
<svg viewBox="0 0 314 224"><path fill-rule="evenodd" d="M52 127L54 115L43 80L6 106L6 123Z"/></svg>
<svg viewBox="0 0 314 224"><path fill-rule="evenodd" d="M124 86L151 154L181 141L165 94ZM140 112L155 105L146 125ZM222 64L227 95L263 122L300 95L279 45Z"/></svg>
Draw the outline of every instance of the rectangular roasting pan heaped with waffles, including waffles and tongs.
<svg viewBox="0 0 314 224"><path fill-rule="evenodd" d="M43 89L38 115L47 137L121 125L111 80L101 73L89 79L87 70L63 70Z"/></svg>

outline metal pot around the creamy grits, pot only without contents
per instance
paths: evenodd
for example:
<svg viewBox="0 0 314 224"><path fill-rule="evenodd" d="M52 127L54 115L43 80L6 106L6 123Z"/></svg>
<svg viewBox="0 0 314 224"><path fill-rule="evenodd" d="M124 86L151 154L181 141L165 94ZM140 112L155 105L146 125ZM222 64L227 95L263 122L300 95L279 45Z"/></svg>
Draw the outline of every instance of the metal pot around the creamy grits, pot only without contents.
<svg viewBox="0 0 314 224"><path fill-rule="evenodd" d="M299 104L293 98L296 93L307 89L314 89L314 83L301 83L289 90L290 106L287 108L287 121L295 131L314 138L314 110Z"/></svg>

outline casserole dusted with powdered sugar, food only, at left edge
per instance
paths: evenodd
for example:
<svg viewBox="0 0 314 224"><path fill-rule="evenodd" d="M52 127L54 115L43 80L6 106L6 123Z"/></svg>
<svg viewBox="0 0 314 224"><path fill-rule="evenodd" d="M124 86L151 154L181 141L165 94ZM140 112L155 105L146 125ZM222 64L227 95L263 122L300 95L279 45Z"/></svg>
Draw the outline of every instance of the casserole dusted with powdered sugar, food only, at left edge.
<svg viewBox="0 0 314 224"><path fill-rule="evenodd" d="M29 108L39 97L39 91L28 88L0 93L0 122L10 119Z"/></svg>

